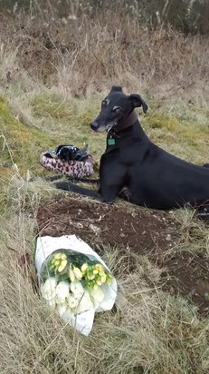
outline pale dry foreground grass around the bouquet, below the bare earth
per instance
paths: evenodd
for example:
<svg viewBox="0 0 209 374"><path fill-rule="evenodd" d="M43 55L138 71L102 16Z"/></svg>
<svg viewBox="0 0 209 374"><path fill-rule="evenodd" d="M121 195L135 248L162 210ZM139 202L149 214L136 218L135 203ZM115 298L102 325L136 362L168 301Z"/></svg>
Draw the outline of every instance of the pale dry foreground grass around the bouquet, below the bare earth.
<svg viewBox="0 0 209 374"><path fill-rule="evenodd" d="M121 256L107 248L104 260L119 281L116 310L97 315L88 338L63 325L34 287L39 196L13 184L18 191L13 193L13 214L0 219L2 374L208 372L208 321L199 320L185 300L161 290L161 271L144 256ZM23 212L25 203L33 213ZM25 253L27 265L21 257ZM124 267L132 261L135 271Z"/></svg>

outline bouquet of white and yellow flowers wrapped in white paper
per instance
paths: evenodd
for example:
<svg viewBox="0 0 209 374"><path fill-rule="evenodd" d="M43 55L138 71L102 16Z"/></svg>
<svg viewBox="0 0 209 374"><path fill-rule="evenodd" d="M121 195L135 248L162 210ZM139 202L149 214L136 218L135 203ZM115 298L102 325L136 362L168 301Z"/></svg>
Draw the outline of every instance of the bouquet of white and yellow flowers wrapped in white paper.
<svg viewBox="0 0 209 374"><path fill-rule="evenodd" d="M95 311L110 310L116 298L117 283L105 263L75 235L38 238L35 257L43 298L88 335Z"/></svg>

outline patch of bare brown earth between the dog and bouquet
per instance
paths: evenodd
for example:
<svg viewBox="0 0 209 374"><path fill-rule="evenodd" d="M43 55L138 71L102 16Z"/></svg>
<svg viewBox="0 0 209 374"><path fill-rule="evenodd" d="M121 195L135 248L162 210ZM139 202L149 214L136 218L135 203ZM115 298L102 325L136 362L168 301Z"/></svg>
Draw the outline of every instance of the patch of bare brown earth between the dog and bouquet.
<svg viewBox="0 0 209 374"><path fill-rule="evenodd" d="M178 224L169 212L59 195L41 203L37 223L40 235L76 234L100 254L107 245L121 252L146 254L150 261L166 268L162 274L164 290L185 296L201 313L208 313L209 261L202 254L172 250L178 240ZM131 266L134 268L134 261Z"/></svg>

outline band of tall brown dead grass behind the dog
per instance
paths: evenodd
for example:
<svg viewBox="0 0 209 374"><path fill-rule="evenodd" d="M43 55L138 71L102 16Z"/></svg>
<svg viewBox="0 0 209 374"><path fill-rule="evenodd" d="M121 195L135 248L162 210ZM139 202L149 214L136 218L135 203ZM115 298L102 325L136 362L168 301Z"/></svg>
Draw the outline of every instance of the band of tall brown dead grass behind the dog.
<svg viewBox="0 0 209 374"><path fill-rule="evenodd" d="M19 14L2 23L3 44L17 56L21 74L62 94L82 96L114 83L203 105L208 100L208 38L160 25L150 30L121 10L43 19ZM0 79L8 88L18 72L11 62L4 69Z"/></svg>

